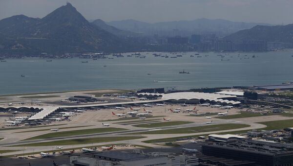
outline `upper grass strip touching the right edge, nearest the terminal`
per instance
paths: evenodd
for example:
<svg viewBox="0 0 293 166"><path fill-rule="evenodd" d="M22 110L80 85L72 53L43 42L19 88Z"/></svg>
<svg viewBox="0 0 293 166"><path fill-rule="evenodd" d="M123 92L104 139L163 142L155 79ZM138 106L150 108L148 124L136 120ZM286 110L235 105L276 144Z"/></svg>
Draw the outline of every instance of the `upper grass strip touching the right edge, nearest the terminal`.
<svg viewBox="0 0 293 166"><path fill-rule="evenodd" d="M218 118L218 119L236 119L236 118L264 117L264 116L272 116L272 115L293 117L293 114L291 114L291 113L268 113L267 115L262 115L260 113L241 111L240 114L221 116L221 117L216 117L216 118Z"/></svg>

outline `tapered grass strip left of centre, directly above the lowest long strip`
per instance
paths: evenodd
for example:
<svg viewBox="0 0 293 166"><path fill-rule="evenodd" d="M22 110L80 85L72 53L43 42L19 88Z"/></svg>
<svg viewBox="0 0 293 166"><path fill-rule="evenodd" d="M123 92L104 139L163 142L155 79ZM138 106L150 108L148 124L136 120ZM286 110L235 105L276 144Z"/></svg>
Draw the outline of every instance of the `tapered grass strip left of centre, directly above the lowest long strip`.
<svg viewBox="0 0 293 166"><path fill-rule="evenodd" d="M115 127L105 127L105 128L93 128L93 129L83 129L83 130L52 132L52 133L43 134L40 136L25 139L25 140L48 139L48 138L57 138L57 137L66 137L66 136L78 136L78 135L84 135L84 134L105 133L105 132L122 131L122 130L126 130L126 129L115 128Z"/></svg>

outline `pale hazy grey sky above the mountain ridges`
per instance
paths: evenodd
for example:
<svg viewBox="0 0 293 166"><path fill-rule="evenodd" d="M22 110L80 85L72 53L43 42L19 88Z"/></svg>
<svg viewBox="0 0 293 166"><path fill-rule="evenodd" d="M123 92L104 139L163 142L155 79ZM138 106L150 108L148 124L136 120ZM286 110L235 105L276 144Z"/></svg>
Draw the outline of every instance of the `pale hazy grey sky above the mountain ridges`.
<svg viewBox="0 0 293 166"><path fill-rule="evenodd" d="M135 19L154 23L199 18L271 24L293 23L293 0L68 0L88 20ZM66 0L0 0L0 19L42 18Z"/></svg>

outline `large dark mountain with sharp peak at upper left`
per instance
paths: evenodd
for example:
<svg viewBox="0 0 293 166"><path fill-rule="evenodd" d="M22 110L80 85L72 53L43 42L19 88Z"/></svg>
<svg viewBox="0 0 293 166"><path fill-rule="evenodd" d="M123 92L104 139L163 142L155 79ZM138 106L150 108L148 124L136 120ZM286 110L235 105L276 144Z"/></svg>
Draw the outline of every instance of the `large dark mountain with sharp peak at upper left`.
<svg viewBox="0 0 293 166"><path fill-rule="evenodd" d="M42 19L23 15L0 21L4 53L123 51L125 42L89 23L70 3Z"/></svg>

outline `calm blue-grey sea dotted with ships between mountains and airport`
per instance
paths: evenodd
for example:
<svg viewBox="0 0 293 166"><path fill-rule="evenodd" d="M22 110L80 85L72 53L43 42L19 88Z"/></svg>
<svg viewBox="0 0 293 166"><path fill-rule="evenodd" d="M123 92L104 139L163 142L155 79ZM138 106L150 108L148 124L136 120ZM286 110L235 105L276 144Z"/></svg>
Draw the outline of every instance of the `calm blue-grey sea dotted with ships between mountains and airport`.
<svg viewBox="0 0 293 166"><path fill-rule="evenodd" d="M124 53L124 58L53 59L52 62L46 62L45 59L7 59L7 62L0 62L0 94L106 88L190 89L293 81L293 50L249 53L180 52L173 55L157 52L167 54L169 58L154 57L152 53L141 53L146 58L126 57L131 53ZM194 55L195 53L200 55ZM221 58L218 54L225 57ZM183 57L170 58L176 55ZM255 58L252 58L253 55ZM183 70L190 74L178 73Z"/></svg>

